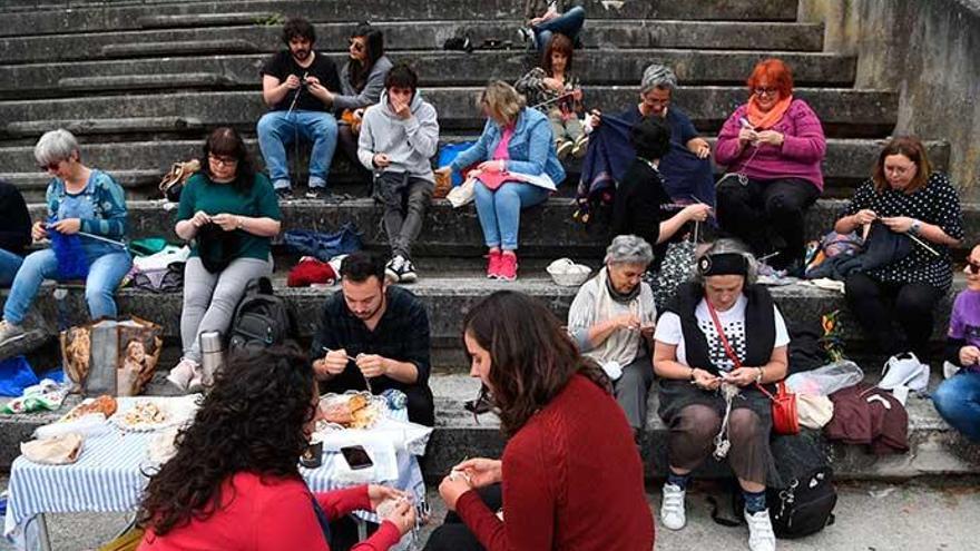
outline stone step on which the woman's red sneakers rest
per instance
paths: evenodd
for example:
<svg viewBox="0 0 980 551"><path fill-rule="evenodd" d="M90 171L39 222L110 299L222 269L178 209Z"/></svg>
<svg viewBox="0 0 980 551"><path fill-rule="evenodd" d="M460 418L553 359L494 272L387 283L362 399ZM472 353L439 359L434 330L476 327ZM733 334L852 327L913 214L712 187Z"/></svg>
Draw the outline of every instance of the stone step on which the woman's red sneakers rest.
<svg viewBox="0 0 980 551"><path fill-rule="evenodd" d="M140 225L143 220L137 218L131 222L135 223L133 225ZM530 227L537 220L529 220L525 226ZM472 220L471 224L476 226L477 222ZM428 230L431 226L432 224L425 228L422 240L419 242L419 246L415 247L413 253L420 258L433 255L441 259L443 256L442 254L439 254L441 252L433 252L435 244L425 240L424 234L429 233ZM318 226L322 230L335 227L336 226L326 225ZM383 244L371 238L371 234L374 233L373 228L365 228L364 226L359 227L364 229L365 246L374 249L386 249ZM470 230L469 227L455 227L453 229L460 234ZM465 264L477 265L477 267L457 272L445 270L443 266L447 263L441 263L440 259L437 258L420 262L419 282L408 285L408 288L421 298L429 311L433 348L440 348L441 351L450 348L450 352L457 348L459 346L460 322L463 314L482 298L496 291L510 289L527 293L548 304L559 319L567 319L568 308L571 305L577 288L561 287L553 284L550 276L545 272L543 266L547 265L547 262L550 262L558 256L569 256L580 262L585 262L586 264L591 264L594 268L598 268L599 262L597 262L597 258L600 258L600 256L597 256L596 253L601 253L601 249L599 247L582 249L581 246L577 244L577 246L570 247L551 246L551 254L548 254L547 252L542 252L541 247L538 247L537 250L531 245L526 247L525 242L531 239L525 239L523 235L521 237L521 256L530 259L540 258L540 260L530 262L528 264L530 267L521 269L520 277L517 282L487 279L481 267L479 267L482 263L480 262L481 253L479 250L481 247L479 247L478 243L472 243L471 248L453 245L453 248L451 249L453 252L451 256L457 258L469 258L470 260ZM469 242L465 237L462 237L460 240L463 243ZM290 258L295 258L295 256L290 256ZM324 298L333 291L336 291L339 286L286 287L285 276L290 266L290 264L281 262L280 269L273 277L273 283L276 287L276 294L282 296L296 314L298 324L297 336L301 338L310 338L314 334L320 321ZM962 282L958 282L954 291L962 288ZM63 303L63 311L67 313L67 322L70 325L85 323L88 316L88 308L85 305L84 288L80 285L70 285L66 287L69 289L68 296L65 298L66 302ZM57 334L57 328L59 327L59 308L57 302L52 297L53 289L53 284L45 284L36 299L36 306L35 309L32 309L32 318L27 323L28 326L32 328L41 328L49 335ZM855 350L859 351L868 347L869 342L853 316L847 311L844 295L842 293L800 284L777 286L773 287L771 291L788 323L812 324L819 319L819 316L822 314L840 311L840 323L842 334L846 336L846 346L849 348L855 347ZM7 294L7 291L2 292L4 299ZM949 321L951 298L952 294L943 297L943 299L937 305L937 321L933 335L937 343L942 340L944 328ZM118 292L116 297L116 304L121 315L133 315L159 323L164 327L165 336L170 338L179 338L182 301L180 293L156 294L137 288L122 288ZM440 364L451 364L452 358L454 357L458 356L450 355L448 356L448 360L441 360ZM457 363L455 365L464 364Z"/></svg>

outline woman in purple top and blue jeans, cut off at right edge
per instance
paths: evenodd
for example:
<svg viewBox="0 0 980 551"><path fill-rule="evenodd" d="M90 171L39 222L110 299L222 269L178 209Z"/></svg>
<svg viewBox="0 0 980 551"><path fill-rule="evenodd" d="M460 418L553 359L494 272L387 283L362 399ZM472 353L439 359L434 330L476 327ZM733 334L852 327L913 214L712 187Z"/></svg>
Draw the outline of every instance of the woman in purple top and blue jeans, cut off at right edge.
<svg viewBox="0 0 980 551"><path fill-rule="evenodd" d="M947 333L947 380L932 393L953 429L980 442L980 245L967 258L967 288L953 301Z"/></svg>

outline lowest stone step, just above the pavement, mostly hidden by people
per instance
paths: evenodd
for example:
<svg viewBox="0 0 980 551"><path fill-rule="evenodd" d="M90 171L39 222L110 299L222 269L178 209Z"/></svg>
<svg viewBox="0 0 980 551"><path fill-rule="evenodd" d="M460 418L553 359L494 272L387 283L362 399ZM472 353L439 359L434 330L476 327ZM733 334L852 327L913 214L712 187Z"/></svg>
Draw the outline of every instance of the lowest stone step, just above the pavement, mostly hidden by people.
<svg viewBox="0 0 980 551"><path fill-rule="evenodd" d="M150 385L150 392L161 387L163 373ZM435 396L435 431L430 439L423 474L429 480L440 480L452 465L464 456L499 457L504 439L500 424L492 413L480 416L479 422L463 410L463 402L477 395L479 381L465 375L435 374L430 380ZM0 399L0 403L9 399ZM63 415L78 402L69 396L57 412L0 415L0 470L9 470L19 455L19 443L30 439L38 426ZM644 450L645 474L649 479L665 475L667 459L667 429L656 414L656 391L650 392L647 441ZM835 444L833 446L834 474L841 480L910 480L920 476L976 475L980 473L977 446L971 445L950 429L935 412L931 402L910 397L909 443L911 450L902 455L878 456L861 446ZM973 459L973 460L971 460ZM726 469L707 462L697 473L699 478L725 475Z"/></svg>

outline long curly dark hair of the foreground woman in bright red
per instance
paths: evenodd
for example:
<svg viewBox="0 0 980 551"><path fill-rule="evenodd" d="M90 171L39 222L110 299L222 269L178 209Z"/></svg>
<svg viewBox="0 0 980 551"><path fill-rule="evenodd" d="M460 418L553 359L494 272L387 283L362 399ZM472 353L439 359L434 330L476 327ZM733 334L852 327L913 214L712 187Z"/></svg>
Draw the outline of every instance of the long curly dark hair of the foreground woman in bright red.
<svg viewBox="0 0 980 551"><path fill-rule="evenodd" d="M239 472L298 478L313 393L313 370L294 344L233 354L177 434L177 454L150 478L137 522L163 535L206 520L224 501L222 484Z"/></svg>

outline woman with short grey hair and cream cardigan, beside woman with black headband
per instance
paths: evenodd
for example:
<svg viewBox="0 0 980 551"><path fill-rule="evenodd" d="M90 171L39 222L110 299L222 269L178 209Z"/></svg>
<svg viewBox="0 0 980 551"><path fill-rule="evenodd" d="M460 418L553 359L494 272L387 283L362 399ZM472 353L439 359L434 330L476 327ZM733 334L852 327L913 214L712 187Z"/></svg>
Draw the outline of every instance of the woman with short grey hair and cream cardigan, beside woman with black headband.
<svg viewBox="0 0 980 551"><path fill-rule="evenodd" d="M582 355L615 381L616 401L639 442L654 383L649 344L657 319L654 293L643 275L654 250L635 235L619 235L606 249L605 266L578 289L568 311L568 332Z"/></svg>

